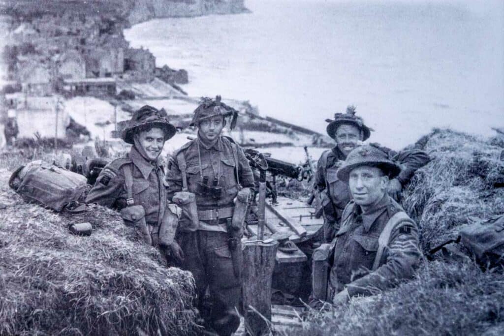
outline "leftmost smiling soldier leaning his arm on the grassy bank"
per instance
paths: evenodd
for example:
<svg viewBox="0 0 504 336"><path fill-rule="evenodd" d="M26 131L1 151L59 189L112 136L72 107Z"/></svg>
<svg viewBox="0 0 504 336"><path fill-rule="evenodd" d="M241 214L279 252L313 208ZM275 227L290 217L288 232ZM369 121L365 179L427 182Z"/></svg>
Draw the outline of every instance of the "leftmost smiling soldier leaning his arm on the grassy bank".
<svg viewBox="0 0 504 336"><path fill-rule="evenodd" d="M180 262L182 251L174 240L177 218L168 207L158 162L175 132L164 110L145 105L136 111L121 134L133 145L129 154L103 168L86 203L121 211L125 224L135 226L147 244L159 246L169 261Z"/></svg>

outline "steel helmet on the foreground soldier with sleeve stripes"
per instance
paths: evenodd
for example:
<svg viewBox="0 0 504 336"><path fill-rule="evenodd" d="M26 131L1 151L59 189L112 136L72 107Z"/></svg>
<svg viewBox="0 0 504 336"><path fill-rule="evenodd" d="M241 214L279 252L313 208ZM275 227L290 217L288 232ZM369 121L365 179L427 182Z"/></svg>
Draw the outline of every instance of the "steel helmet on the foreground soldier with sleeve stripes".
<svg viewBox="0 0 504 336"><path fill-rule="evenodd" d="M391 179L401 172L401 167L392 161L387 153L374 146L364 145L348 153L336 174L340 180L348 182L350 172L361 166L380 168Z"/></svg>

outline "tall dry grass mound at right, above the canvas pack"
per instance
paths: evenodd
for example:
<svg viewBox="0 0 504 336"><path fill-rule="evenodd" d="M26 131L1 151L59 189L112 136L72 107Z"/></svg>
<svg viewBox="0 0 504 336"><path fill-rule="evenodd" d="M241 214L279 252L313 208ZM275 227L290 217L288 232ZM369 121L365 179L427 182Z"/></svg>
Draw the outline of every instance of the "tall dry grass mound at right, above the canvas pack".
<svg viewBox="0 0 504 336"><path fill-rule="evenodd" d="M502 148L452 130L435 129L415 145L432 161L412 179L404 196L406 212L422 229L425 250L468 224L469 217L504 213Z"/></svg>

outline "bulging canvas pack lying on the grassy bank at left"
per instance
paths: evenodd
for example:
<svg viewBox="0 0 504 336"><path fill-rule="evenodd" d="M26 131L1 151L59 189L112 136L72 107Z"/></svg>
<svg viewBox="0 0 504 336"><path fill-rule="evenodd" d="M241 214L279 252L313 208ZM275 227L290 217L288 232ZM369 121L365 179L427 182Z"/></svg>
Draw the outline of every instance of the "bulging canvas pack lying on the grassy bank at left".
<svg viewBox="0 0 504 336"><path fill-rule="evenodd" d="M16 169L9 186L25 200L57 212L75 210L90 188L86 177L41 160Z"/></svg>

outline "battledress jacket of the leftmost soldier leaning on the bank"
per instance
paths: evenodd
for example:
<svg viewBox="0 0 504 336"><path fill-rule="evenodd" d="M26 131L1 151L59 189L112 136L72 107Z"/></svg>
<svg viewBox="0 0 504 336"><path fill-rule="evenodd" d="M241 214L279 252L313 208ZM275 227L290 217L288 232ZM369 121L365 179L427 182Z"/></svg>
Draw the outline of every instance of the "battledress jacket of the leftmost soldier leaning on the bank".
<svg viewBox="0 0 504 336"><path fill-rule="evenodd" d="M169 211L166 209L167 195L163 185L164 172L162 166L146 161L135 147L132 147L127 156L115 159L103 168L86 197L86 203L97 203L116 210L127 207L125 166L131 167L134 203L143 206L145 220L153 238L153 245L156 246L163 216L165 211ZM172 228L173 236L175 229Z"/></svg>

